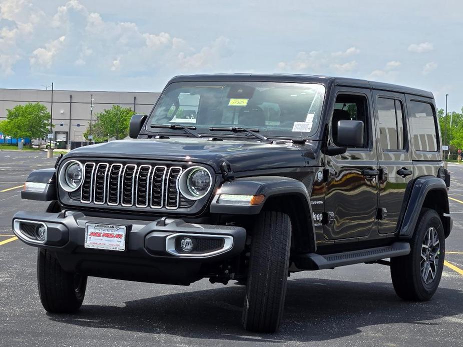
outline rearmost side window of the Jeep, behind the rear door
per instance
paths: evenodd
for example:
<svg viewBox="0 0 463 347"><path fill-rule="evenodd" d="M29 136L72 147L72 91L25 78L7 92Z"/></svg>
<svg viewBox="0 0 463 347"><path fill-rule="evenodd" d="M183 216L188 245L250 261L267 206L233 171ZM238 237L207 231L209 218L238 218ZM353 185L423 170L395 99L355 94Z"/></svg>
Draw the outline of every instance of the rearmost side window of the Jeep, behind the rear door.
<svg viewBox="0 0 463 347"><path fill-rule="evenodd" d="M417 151L436 151L437 129L432 106L420 101L410 101L408 105L413 147Z"/></svg>

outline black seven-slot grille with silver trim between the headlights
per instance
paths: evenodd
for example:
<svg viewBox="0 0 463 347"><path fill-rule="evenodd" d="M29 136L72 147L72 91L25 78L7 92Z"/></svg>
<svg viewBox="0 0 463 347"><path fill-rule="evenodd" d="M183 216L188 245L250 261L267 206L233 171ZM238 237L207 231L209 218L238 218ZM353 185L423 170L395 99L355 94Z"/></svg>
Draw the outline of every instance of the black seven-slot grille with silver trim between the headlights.
<svg viewBox="0 0 463 347"><path fill-rule="evenodd" d="M81 202L100 205L189 207L193 201L178 190L182 171L180 166L86 162L82 186L70 195Z"/></svg>

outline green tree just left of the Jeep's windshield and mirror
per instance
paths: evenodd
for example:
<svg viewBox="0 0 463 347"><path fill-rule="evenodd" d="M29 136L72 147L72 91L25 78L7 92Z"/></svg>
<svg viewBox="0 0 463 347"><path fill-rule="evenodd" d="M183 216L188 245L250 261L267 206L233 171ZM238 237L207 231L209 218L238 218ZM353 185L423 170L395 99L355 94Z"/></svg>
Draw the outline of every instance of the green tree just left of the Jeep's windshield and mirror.
<svg viewBox="0 0 463 347"><path fill-rule="evenodd" d="M113 105L110 109L96 113L96 121L92 124L93 140L102 142L109 138L124 138L129 135L130 118L134 112L131 108ZM88 140L90 135L90 122L84 137Z"/></svg>

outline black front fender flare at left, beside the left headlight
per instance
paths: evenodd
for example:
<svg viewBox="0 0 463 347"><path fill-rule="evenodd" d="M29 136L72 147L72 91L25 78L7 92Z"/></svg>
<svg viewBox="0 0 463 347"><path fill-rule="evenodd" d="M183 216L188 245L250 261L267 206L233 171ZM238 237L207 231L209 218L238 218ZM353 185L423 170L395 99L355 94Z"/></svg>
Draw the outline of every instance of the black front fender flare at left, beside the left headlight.
<svg viewBox="0 0 463 347"><path fill-rule="evenodd" d="M26 182L45 184L43 191L22 190L21 198L39 201L53 201L58 198L56 191L56 170L54 167L32 171Z"/></svg>

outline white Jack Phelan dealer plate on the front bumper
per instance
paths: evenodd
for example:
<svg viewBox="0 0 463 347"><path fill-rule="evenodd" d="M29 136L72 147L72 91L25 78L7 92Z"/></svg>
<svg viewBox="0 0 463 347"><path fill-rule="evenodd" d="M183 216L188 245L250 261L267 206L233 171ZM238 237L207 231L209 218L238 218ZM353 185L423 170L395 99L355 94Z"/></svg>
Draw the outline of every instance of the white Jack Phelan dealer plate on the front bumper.
<svg viewBox="0 0 463 347"><path fill-rule="evenodd" d="M126 249L125 225L85 223L85 248Z"/></svg>

